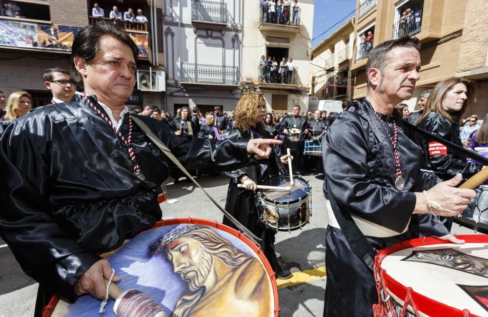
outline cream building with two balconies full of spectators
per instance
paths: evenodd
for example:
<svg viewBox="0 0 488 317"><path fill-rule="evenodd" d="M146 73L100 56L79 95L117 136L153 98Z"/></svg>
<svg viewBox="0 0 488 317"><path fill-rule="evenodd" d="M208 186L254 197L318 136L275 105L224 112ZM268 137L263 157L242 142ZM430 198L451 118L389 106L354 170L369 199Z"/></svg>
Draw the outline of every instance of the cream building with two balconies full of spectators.
<svg viewBox="0 0 488 317"><path fill-rule="evenodd" d="M314 1L298 1L298 8L260 2L243 2L241 90L263 93L268 111L291 112L294 105L306 111ZM277 66L266 66L262 56L274 58ZM280 69L290 58L293 64Z"/></svg>

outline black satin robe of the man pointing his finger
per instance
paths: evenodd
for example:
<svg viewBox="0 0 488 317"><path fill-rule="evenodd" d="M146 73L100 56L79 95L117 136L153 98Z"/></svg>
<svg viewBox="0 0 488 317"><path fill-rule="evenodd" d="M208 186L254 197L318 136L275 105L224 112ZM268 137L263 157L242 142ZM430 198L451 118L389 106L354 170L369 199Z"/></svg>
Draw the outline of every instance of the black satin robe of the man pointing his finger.
<svg viewBox="0 0 488 317"><path fill-rule="evenodd" d="M191 140L156 119L138 118L187 168L232 170L250 162L245 140ZM126 114L119 129L125 138L128 129ZM96 253L162 218L155 189L168 176L169 160L133 124L145 180L136 177L127 147L80 95L15 120L0 146L0 235L23 271L65 301L76 300L73 285L100 260Z"/></svg>

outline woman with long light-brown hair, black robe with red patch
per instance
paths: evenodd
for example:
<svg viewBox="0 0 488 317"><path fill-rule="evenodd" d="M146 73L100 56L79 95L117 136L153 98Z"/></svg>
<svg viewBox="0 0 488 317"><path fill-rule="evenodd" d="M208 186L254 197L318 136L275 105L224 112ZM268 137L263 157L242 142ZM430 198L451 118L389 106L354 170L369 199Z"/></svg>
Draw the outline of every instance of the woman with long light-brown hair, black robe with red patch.
<svg viewBox="0 0 488 317"><path fill-rule="evenodd" d="M459 118L462 118L463 113L474 100L475 87L473 81L458 77L439 82L432 89L417 126L447 141L463 146L459 137ZM424 135L417 133L413 139L424 150L423 169L426 175L423 189L431 188L440 181L453 178L457 173L463 174L464 178L469 178L483 167L480 164L468 162L462 153L455 152ZM469 209L470 207L467 210ZM440 218L450 231L452 217Z"/></svg>

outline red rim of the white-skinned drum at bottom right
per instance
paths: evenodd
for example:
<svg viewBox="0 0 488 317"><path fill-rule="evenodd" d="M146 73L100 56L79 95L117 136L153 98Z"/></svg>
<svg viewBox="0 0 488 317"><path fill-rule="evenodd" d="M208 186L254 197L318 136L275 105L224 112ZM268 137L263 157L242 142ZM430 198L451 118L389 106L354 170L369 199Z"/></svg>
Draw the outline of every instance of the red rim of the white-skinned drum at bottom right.
<svg viewBox="0 0 488 317"><path fill-rule="evenodd" d="M455 237L465 240L467 243L488 243L488 235L454 235ZM407 241L403 241L401 243L397 243L392 245L389 248L385 248L378 252L375 257L376 266L378 267L379 271L383 274L383 283L386 288L395 294L397 297L401 298L402 300L407 297L407 286L400 284L396 281L393 277L389 276L386 270L381 268L381 262L383 261L386 256L393 254L400 250L405 250L408 248L414 248L424 245L436 245L436 244L449 244L452 243L448 240L443 240L439 238L433 237L424 237L424 238L416 238ZM438 302L433 300L432 298L426 297L422 294L415 292L415 290L410 289L410 297L412 298L413 302L415 302L419 311L428 315L428 316L476 316L476 315L465 315L465 312L459 310L457 308L448 306L444 303Z"/></svg>

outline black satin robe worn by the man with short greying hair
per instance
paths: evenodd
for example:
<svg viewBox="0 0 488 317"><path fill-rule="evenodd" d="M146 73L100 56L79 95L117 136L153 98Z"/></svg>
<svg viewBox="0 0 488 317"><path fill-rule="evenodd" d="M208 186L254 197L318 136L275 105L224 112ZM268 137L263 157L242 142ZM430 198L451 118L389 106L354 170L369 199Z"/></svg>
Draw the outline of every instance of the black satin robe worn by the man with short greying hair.
<svg viewBox="0 0 488 317"><path fill-rule="evenodd" d="M413 215L420 190L421 149L405 136L400 114L382 116L393 135L391 120L398 126L398 152L406 180L405 189L394 187L395 160L386 129L366 100L354 103L337 116L324 137L324 194L326 183L338 204L351 214L386 228L407 232L389 238L367 237L378 252L411 238L447 235L446 228L430 214ZM377 293L372 272L352 253L343 232L327 227L325 238L324 316L372 316Z"/></svg>

